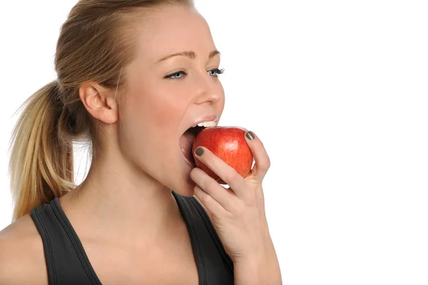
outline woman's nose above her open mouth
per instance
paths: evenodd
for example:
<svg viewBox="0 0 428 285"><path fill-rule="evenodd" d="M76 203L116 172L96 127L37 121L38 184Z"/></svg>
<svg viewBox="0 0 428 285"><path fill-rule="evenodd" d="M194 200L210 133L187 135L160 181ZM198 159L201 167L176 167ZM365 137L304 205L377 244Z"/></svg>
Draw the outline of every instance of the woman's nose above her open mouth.
<svg viewBox="0 0 428 285"><path fill-rule="evenodd" d="M224 96L223 86L218 78L208 73L201 74L193 82L195 86L195 103L217 103Z"/></svg>

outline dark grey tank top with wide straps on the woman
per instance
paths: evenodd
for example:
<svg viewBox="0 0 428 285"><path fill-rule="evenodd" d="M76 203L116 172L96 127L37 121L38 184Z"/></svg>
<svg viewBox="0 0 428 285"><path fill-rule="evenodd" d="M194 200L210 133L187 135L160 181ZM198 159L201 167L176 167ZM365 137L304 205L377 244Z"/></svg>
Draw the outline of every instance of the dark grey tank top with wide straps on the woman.
<svg viewBox="0 0 428 285"><path fill-rule="evenodd" d="M199 285L233 284L233 262L205 209L195 197L172 192L188 228ZM58 197L31 209L30 215L43 242L49 285L101 284Z"/></svg>

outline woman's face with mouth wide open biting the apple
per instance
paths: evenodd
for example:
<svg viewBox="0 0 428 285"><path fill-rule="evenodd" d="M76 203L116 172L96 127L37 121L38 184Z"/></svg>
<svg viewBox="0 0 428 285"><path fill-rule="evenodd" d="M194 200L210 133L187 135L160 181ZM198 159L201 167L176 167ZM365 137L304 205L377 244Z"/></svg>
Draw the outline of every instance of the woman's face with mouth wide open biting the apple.
<svg viewBox="0 0 428 285"><path fill-rule="evenodd" d="M187 8L145 15L137 40L136 58L126 68L122 151L162 185L193 195L189 173L194 166L181 150L191 153L183 133L204 117L220 120L225 104L220 55L205 19Z"/></svg>

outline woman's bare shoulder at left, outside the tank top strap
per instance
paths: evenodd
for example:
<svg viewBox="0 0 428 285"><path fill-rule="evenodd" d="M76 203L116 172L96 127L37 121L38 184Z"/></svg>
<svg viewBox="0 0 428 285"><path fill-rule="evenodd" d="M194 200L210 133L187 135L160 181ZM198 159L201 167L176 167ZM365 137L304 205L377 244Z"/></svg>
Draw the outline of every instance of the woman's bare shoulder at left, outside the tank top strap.
<svg viewBox="0 0 428 285"><path fill-rule="evenodd" d="M48 284L43 242L29 214L0 231L0 284Z"/></svg>

